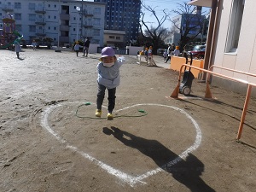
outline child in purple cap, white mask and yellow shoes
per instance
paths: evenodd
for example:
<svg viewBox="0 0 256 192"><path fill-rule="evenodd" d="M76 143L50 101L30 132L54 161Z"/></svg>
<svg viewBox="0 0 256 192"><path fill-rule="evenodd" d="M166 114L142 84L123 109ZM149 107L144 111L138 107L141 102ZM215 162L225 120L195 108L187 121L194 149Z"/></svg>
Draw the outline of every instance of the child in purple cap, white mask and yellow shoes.
<svg viewBox="0 0 256 192"><path fill-rule="evenodd" d="M124 57L116 58L112 47L102 49L102 57L97 65L98 72L98 93L96 99L96 117L102 116L102 103L105 97L105 90L108 90L108 120L113 120L113 108L115 106L116 87L119 86L119 67L125 62Z"/></svg>

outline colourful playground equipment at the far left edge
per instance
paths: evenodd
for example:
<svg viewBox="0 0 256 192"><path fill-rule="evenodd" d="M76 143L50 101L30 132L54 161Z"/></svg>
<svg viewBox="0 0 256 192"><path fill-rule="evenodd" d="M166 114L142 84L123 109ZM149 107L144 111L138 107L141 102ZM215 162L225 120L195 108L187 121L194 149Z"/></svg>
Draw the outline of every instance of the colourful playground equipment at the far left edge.
<svg viewBox="0 0 256 192"><path fill-rule="evenodd" d="M23 35L15 31L15 19L9 13L3 16L3 29L0 30L0 49L10 48L15 41L20 42Z"/></svg>

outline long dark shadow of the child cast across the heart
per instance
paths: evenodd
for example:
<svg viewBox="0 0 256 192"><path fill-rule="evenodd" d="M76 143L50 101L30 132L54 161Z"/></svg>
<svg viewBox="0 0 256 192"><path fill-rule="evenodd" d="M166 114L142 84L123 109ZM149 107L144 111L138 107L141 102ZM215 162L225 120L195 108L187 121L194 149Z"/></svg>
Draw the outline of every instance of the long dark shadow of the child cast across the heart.
<svg viewBox="0 0 256 192"><path fill-rule="evenodd" d="M187 186L192 192L215 191L201 179L200 176L201 172L204 171L204 165L195 155L189 154L187 159L183 160L156 140L137 137L127 131L121 131L114 126L112 126L111 129L103 127L103 132L107 135L113 135L113 137L117 138L126 146L136 148L142 154L150 157L157 166L166 172L172 173L172 177L179 183L183 183L183 185ZM128 137L128 139L124 136ZM178 162L174 164L172 160L177 160ZM170 165L168 162L171 162L169 163Z"/></svg>

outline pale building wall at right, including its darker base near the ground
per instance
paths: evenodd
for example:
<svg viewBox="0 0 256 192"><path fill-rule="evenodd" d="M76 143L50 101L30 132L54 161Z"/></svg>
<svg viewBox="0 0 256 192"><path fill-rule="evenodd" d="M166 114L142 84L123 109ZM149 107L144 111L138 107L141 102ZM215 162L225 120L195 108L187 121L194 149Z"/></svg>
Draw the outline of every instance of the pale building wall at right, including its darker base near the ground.
<svg viewBox="0 0 256 192"><path fill-rule="evenodd" d="M234 1L223 0L220 2L218 9L218 20L216 26L216 36L212 44L212 58L210 66L226 67L244 73L256 74L256 23L252 22L252 18L256 16L254 0L238 0L239 3L245 2L243 14L241 15L241 25L237 25L237 12L232 9ZM237 9L236 9L237 10ZM235 13L235 14L234 14ZM232 15L234 17L232 17ZM235 23L232 23L234 18ZM236 26L241 26L239 41L235 49L230 49L230 34L234 34L234 30L230 30ZM224 69L213 68L215 73L224 74L231 78L241 79L249 83L256 84L256 78L241 73L234 73ZM212 77L212 84L221 85L226 89L247 93L247 84L230 81L227 79ZM256 96L256 88L253 87L252 95Z"/></svg>

